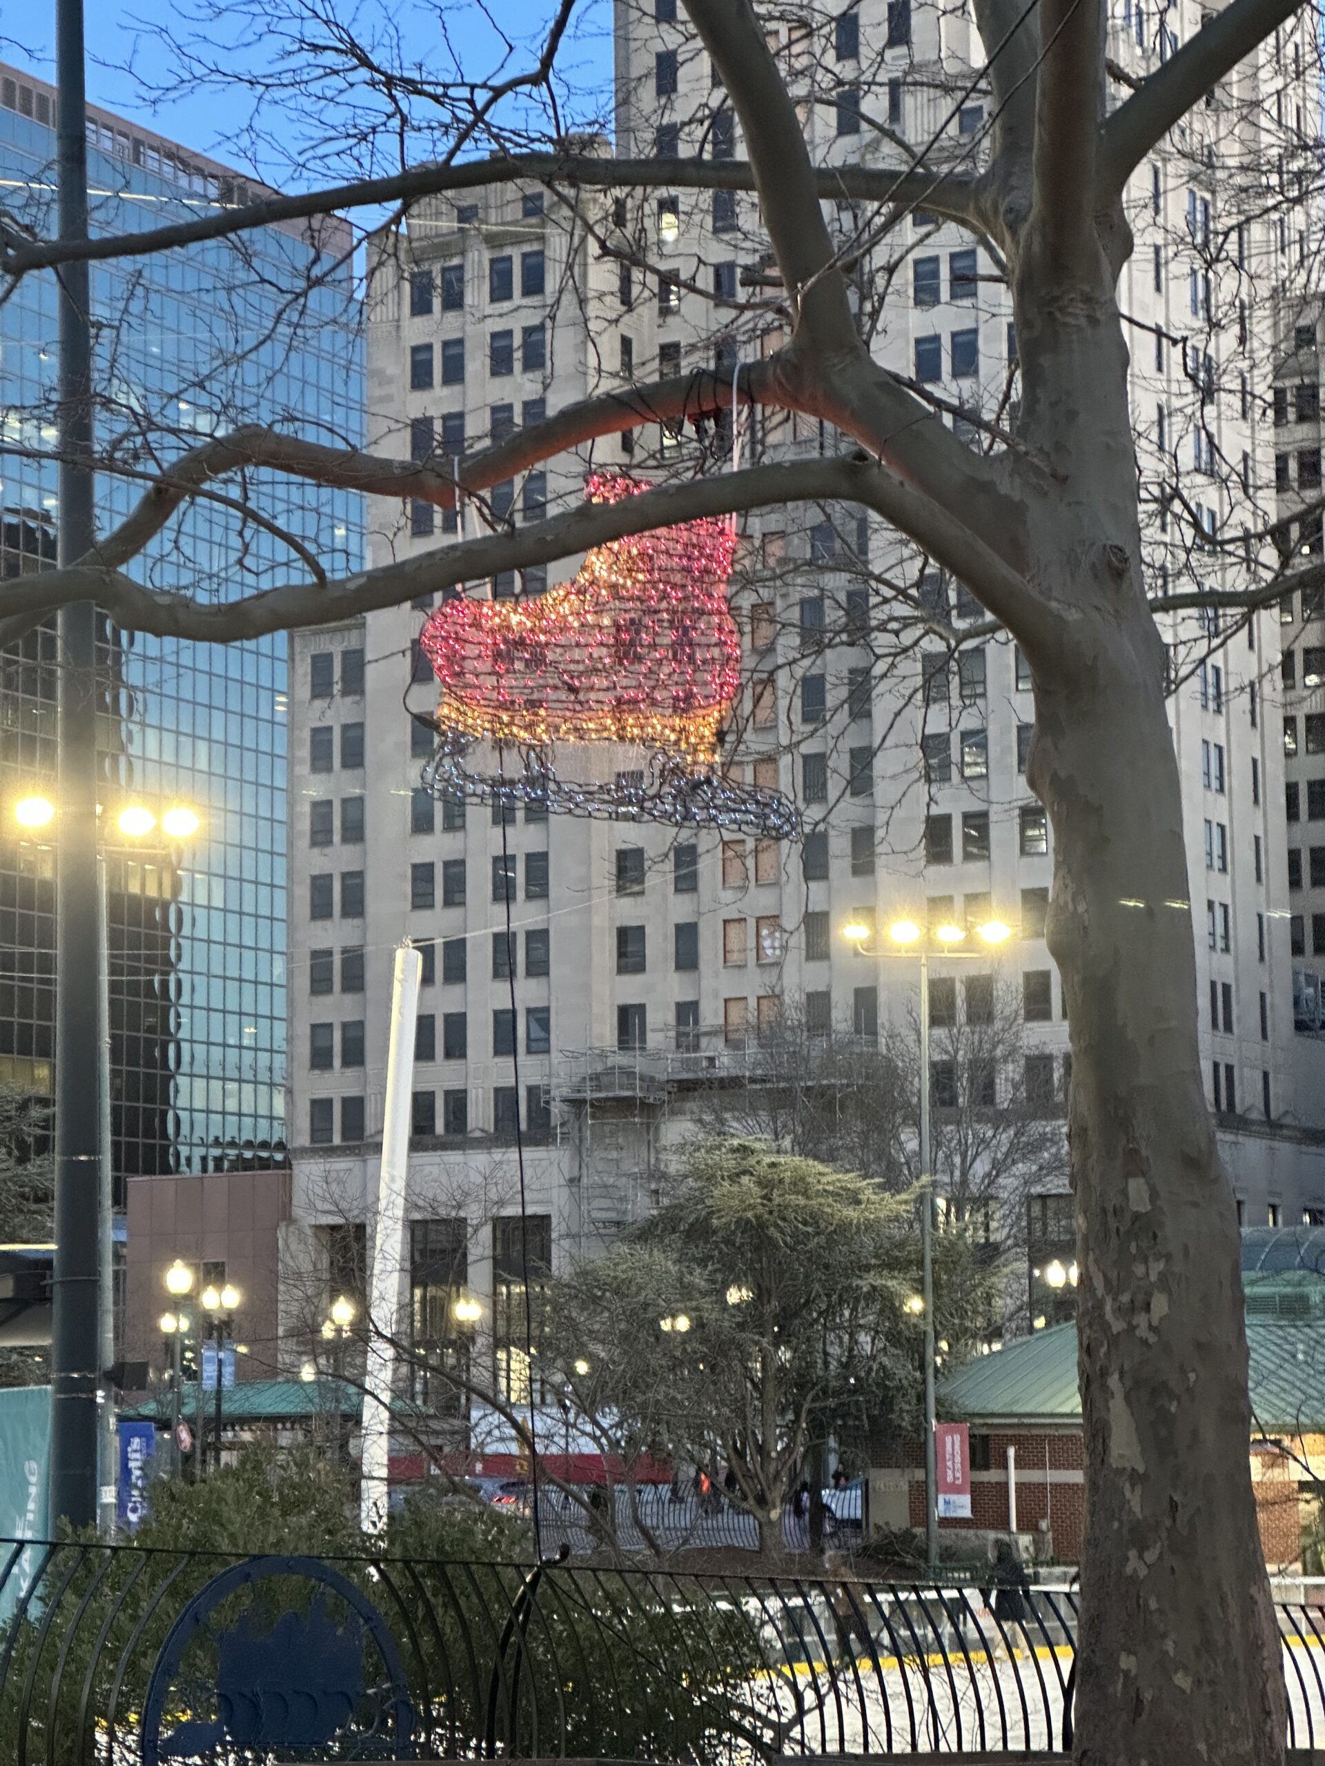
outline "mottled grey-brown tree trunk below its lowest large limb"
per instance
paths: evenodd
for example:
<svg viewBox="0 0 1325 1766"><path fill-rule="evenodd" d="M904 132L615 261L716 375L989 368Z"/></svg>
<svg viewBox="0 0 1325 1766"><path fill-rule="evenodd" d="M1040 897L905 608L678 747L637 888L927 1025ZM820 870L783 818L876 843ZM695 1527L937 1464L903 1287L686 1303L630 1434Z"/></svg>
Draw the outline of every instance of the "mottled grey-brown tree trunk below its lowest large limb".
<svg viewBox="0 0 1325 1766"><path fill-rule="evenodd" d="M1088 669L1037 685L1030 766L1055 826L1048 932L1072 1040L1088 1566L1076 1757L1268 1766L1284 1745L1279 1639L1249 1473L1237 1215L1201 1088L1162 643L1111 574L1086 615ZM1136 611L1120 616L1118 599Z"/></svg>

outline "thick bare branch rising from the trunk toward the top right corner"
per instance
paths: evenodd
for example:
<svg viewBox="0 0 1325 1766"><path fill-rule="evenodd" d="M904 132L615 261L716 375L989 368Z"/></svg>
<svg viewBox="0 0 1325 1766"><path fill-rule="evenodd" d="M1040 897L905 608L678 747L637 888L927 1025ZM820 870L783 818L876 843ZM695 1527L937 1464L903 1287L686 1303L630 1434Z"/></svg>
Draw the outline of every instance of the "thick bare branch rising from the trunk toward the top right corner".
<svg viewBox="0 0 1325 1766"><path fill-rule="evenodd" d="M1104 124L1097 173L1101 198L1117 196L1155 141L1300 5L1302 0L1230 0L1221 11L1208 12L1196 35Z"/></svg>

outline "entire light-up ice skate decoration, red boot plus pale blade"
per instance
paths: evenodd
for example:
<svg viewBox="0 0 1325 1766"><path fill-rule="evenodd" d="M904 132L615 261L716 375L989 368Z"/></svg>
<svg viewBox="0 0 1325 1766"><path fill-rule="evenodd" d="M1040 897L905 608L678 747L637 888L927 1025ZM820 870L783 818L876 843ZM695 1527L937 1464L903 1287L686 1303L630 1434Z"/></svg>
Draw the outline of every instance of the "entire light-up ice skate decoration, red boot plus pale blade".
<svg viewBox="0 0 1325 1766"><path fill-rule="evenodd" d="M587 496L615 503L645 489L594 473ZM443 602L420 634L442 683L440 745L424 768L435 795L535 800L585 816L631 816L788 837L795 807L777 791L723 779L719 731L740 691L740 634L726 602L735 533L685 521L595 546L569 583L528 600ZM498 772L470 766L477 743ZM558 743L648 751L613 784L556 775ZM521 752L512 777L502 758Z"/></svg>

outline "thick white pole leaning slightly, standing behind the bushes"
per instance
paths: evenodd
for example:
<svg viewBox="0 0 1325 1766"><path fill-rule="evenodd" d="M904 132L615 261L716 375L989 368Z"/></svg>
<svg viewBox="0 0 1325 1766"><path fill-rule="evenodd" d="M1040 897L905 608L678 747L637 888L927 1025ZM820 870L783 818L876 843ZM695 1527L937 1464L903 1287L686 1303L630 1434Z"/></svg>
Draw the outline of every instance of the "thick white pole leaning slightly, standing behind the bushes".
<svg viewBox="0 0 1325 1766"><path fill-rule="evenodd" d="M387 1097L382 1118L371 1272L367 1282L367 1367L360 1430L359 1524L380 1533L387 1522L387 1452L390 1446L390 1385L399 1330L399 1289L405 1264L405 1180L410 1167L410 1093L413 1091L413 1024L419 1012L422 957L406 940L396 947L387 1044Z"/></svg>

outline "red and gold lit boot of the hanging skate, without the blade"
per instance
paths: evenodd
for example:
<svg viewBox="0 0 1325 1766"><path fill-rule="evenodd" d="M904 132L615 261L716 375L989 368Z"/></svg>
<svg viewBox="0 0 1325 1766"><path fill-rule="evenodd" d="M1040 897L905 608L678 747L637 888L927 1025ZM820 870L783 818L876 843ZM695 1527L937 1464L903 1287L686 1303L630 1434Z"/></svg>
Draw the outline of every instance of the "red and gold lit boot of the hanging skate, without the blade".
<svg viewBox="0 0 1325 1766"><path fill-rule="evenodd" d="M595 473L588 500L641 489ZM636 742L712 761L740 691L733 551L726 521L687 521L595 546L534 600L445 602L420 638L440 722L491 742Z"/></svg>

